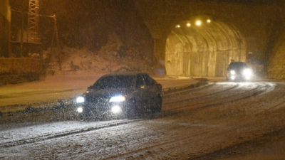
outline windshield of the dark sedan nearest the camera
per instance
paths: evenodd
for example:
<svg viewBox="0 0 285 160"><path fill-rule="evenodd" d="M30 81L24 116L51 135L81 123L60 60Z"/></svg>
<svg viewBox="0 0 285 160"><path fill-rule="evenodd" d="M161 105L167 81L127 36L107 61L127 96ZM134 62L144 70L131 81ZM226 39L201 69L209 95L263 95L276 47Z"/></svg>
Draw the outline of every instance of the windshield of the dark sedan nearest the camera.
<svg viewBox="0 0 285 160"><path fill-rule="evenodd" d="M112 75L97 80L93 87L96 89L116 89L131 87L135 75Z"/></svg>

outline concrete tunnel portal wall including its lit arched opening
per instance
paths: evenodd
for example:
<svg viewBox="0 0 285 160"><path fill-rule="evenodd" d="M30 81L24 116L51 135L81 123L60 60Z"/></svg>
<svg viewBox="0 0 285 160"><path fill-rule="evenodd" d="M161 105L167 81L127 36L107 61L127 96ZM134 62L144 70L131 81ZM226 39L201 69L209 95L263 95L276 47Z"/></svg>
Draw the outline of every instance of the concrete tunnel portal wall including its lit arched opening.
<svg viewBox="0 0 285 160"><path fill-rule="evenodd" d="M156 67L165 69L166 75L225 77L232 59L267 60L284 30L284 1L134 3L154 40Z"/></svg>

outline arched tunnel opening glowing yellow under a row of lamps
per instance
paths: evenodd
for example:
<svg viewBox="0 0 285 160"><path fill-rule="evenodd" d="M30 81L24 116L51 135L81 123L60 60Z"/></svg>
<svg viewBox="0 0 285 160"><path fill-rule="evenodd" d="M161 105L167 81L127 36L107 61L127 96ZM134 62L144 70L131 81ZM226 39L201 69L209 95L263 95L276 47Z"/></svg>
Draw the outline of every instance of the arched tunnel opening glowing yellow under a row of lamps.
<svg viewBox="0 0 285 160"><path fill-rule="evenodd" d="M246 60L239 31L212 18L177 23L166 39L165 69L170 76L225 77L230 60Z"/></svg>

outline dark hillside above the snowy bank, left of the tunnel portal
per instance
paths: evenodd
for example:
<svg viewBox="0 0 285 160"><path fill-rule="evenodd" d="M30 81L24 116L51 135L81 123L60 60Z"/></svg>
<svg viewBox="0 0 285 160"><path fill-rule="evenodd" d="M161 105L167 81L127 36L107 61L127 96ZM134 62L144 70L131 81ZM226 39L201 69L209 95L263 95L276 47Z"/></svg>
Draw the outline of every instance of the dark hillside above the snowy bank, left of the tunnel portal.
<svg viewBox="0 0 285 160"><path fill-rule="evenodd" d="M23 3L24 2L24 3ZM10 0L11 8L15 10L24 9L28 11L28 0ZM22 3L24 4L22 6ZM104 60L115 61L113 65L128 65L128 70L140 70L144 66L132 66L125 61L140 61L141 65L147 67L155 65L153 58L153 41L147 26L135 9L131 0L85 0L85 1L50 1L39 0L39 14L56 15L58 36L63 52L63 60L73 59L73 55L66 53L66 50L73 50L72 53L89 56L103 56ZM27 14L24 14L24 29L26 30ZM20 40L21 14L17 11L12 13L12 41ZM51 39L53 37L53 18L39 17L39 38L49 53ZM67 49L68 48L68 49ZM82 53L86 50L86 53ZM66 57L68 56L68 57ZM76 55L77 56L77 55ZM46 55L46 57L49 57ZM51 60L56 58L51 58ZM89 58L90 59L90 58ZM97 58L98 59L98 58ZM68 65L78 65L74 68L89 68L75 63L73 60L64 62ZM56 61L51 61L53 66ZM91 60L88 63L93 63ZM135 65L135 64L134 64ZM91 66L91 67L90 67ZM95 66L94 66L95 67ZM72 68L68 67L70 70ZM103 68L103 66L97 66ZM104 67L108 68L108 67ZM68 70L69 70L68 69ZM149 69L147 69L149 70ZM111 69L110 69L111 71Z"/></svg>

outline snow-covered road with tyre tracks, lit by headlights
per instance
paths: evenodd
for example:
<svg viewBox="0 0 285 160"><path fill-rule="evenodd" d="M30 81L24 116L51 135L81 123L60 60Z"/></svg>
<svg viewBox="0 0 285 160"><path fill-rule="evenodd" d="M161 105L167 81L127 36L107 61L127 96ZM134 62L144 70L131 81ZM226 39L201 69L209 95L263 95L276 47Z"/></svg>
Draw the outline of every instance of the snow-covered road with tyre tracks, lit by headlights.
<svg viewBox="0 0 285 160"><path fill-rule="evenodd" d="M161 113L134 119L79 122L48 111L71 120L1 124L0 159L221 159L284 134L284 90L283 82L212 82L168 92Z"/></svg>

